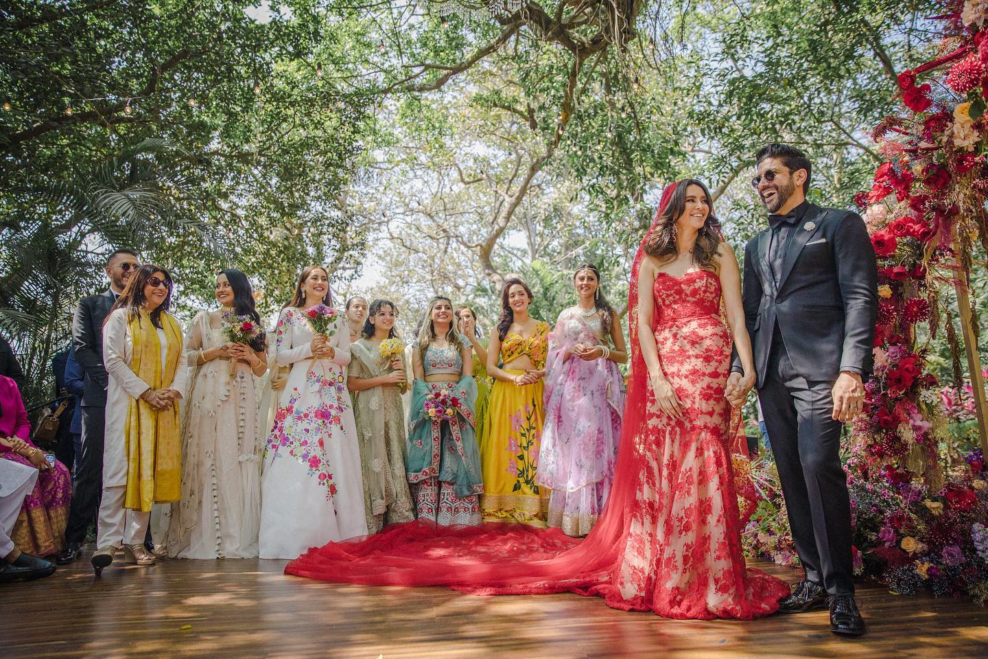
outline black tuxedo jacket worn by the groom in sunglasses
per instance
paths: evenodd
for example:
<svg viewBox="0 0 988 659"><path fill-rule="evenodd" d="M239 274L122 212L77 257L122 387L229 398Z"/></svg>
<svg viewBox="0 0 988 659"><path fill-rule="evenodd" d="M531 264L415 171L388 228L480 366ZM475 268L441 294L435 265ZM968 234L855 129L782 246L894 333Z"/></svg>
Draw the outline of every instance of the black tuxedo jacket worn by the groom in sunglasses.
<svg viewBox="0 0 988 659"><path fill-rule="evenodd" d="M769 264L771 228L745 246L745 323L757 384L765 382L777 324L792 367L810 381L871 371L878 311L877 266L857 213L808 205L792 228L778 286ZM743 371L734 355L732 371Z"/></svg>

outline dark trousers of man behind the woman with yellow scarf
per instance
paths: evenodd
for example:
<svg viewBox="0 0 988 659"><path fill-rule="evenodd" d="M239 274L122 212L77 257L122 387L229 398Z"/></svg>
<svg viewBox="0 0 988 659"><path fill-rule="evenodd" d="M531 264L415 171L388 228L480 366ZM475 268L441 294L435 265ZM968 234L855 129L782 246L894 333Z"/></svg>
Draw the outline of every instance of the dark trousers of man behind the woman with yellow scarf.
<svg viewBox="0 0 988 659"><path fill-rule="evenodd" d="M96 521L103 494L103 432L106 408L82 407L82 459L75 468L72 505L65 526L66 542L85 542L86 531Z"/></svg>

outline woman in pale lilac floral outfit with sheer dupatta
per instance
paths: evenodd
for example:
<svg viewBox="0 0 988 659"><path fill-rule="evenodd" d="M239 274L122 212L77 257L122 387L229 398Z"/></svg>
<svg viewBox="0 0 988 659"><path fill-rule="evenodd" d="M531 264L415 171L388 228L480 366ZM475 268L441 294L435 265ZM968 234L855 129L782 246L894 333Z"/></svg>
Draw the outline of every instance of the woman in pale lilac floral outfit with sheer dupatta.
<svg viewBox="0 0 988 659"><path fill-rule="evenodd" d="M614 480L624 409L617 364L627 361L627 352L617 314L601 292L600 271L580 266L573 285L579 303L559 314L549 336L538 484L552 492L548 526L587 535Z"/></svg>

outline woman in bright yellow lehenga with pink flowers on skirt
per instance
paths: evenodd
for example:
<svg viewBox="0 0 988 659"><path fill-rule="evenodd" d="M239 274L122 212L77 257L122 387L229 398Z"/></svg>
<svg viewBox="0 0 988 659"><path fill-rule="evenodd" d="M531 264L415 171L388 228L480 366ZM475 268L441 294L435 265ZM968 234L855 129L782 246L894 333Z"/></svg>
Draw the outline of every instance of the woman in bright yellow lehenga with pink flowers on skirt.
<svg viewBox="0 0 988 659"><path fill-rule="evenodd" d="M510 279L501 290L501 318L491 332L487 372L494 378L480 441L487 522L545 526L549 491L535 482L544 410L542 377L549 326L529 316L532 289ZM502 366L498 367L498 357Z"/></svg>

